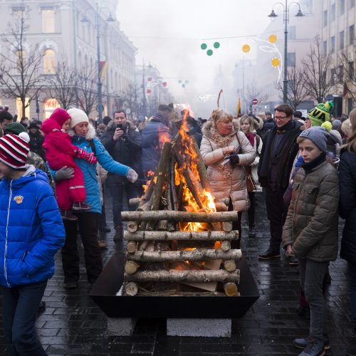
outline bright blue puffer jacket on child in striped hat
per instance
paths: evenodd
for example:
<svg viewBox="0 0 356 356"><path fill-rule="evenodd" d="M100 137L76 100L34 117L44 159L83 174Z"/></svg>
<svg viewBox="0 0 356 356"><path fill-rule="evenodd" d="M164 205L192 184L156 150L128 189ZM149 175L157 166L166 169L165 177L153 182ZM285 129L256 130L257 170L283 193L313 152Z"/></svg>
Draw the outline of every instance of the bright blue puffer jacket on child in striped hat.
<svg viewBox="0 0 356 356"><path fill-rule="evenodd" d="M26 167L23 177L0 182L0 285L6 288L51 278L66 236L46 173Z"/></svg>

